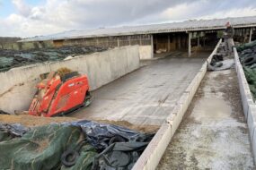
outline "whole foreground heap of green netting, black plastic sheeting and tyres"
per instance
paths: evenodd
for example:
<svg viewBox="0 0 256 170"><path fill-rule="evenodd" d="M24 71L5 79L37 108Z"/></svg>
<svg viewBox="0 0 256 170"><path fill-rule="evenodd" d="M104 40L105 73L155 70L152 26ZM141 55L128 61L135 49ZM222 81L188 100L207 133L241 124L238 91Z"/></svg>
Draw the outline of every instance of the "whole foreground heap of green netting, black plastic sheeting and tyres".
<svg viewBox="0 0 256 170"><path fill-rule="evenodd" d="M0 123L1 170L129 170L154 134L93 121Z"/></svg>

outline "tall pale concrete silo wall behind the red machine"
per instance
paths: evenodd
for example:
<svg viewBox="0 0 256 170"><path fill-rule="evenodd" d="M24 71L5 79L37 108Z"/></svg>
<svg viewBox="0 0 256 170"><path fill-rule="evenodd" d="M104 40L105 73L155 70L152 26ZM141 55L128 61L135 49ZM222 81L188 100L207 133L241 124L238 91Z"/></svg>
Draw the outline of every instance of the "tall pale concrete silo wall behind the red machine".
<svg viewBox="0 0 256 170"><path fill-rule="evenodd" d="M32 64L0 72L0 110L13 113L14 110L28 110L31 99L40 81L40 74L67 67L86 74L91 90L98 89L139 67L138 46L118 47L92 55L80 55L75 58Z"/></svg>

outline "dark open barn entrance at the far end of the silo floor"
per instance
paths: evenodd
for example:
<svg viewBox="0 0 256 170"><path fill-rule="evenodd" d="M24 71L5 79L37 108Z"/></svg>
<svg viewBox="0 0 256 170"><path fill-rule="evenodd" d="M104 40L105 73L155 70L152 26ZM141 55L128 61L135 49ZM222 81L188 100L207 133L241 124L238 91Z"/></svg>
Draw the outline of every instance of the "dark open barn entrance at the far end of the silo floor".
<svg viewBox="0 0 256 170"><path fill-rule="evenodd" d="M210 51L220 37L218 30L154 34L154 57L172 55L176 52L184 52L190 56L198 51Z"/></svg>

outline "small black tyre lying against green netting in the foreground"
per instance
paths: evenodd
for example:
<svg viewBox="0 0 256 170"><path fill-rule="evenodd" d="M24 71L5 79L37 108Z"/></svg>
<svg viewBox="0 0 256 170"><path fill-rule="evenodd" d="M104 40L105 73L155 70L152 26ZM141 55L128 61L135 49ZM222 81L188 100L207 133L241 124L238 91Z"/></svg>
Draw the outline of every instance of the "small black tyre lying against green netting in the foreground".
<svg viewBox="0 0 256 170"><path fill-rule="evenodd" d="M68 157L72 157L71 160L68 160ZM64 166L74 166L77 158L79 157L79 153L75 150L66 150L61 155L61 162Z"/></svg>

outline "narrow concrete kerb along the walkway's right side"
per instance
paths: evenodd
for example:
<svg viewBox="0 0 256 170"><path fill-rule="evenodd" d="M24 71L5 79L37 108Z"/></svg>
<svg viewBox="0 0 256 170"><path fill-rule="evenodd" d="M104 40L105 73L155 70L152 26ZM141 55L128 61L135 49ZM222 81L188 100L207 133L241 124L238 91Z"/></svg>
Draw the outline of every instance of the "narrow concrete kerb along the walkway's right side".
<svg viewBox="0 0 256 170"><path fill-rule="evenodd" d="M234 63L239 83L240 95L242 98L243 114L247 120L250 140L252 143L254 162L256 163L256 104L253 102L252 93L250 91L248 82L246 81L245 74L243 72L243 66L240 63L239 56L235 47Z"/></svg>

